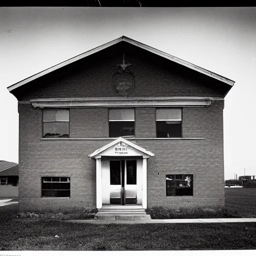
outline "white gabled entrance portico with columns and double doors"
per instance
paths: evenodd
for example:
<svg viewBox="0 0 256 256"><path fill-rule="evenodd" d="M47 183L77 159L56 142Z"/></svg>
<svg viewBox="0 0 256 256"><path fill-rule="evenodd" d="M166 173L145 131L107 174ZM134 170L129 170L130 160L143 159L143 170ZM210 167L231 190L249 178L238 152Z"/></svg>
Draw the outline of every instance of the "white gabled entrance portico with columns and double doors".
<svg viewBox="0 0 256 256"><path fill-rule="evenodd" d="M96 207L137 203L146 209L146 159L153 155L122 137L91 153L96 159Z"/></svg>

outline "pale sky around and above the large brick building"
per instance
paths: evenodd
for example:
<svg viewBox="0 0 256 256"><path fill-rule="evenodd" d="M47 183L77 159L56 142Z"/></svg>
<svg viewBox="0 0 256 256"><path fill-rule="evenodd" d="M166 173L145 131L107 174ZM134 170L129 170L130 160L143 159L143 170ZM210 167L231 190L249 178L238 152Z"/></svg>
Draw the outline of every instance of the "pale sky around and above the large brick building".
<svg viewBox="0 0 256 256"><path fill-rule="evenodd" d="M126 35L235 81L225 97L225 178L256 175L256 7L0 8L0 159L18 162L7 86Z"/></svg>

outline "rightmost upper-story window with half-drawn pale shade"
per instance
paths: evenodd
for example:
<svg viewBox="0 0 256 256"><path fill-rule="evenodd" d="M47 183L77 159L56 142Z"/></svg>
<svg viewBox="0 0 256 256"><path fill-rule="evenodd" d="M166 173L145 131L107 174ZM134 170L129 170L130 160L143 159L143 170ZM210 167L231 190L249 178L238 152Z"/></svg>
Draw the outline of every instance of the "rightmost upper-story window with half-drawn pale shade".
<svg viewBox="0 0 256 256"><path fill-rule="evenodd" d="M156 109L156 137L181 137L182 114L180 108Z"/></svg>

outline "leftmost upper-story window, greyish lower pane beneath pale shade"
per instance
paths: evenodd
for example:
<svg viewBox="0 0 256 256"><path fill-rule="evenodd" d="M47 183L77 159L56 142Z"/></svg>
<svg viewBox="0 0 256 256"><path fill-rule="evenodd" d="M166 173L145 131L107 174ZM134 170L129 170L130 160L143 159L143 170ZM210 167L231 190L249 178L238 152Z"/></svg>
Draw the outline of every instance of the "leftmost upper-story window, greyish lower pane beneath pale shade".
<svg viewBox="0 0 256 256"><path fill-rule="evenodd" d="M69 137L69 110L43 109L43 137Z"/></svg>

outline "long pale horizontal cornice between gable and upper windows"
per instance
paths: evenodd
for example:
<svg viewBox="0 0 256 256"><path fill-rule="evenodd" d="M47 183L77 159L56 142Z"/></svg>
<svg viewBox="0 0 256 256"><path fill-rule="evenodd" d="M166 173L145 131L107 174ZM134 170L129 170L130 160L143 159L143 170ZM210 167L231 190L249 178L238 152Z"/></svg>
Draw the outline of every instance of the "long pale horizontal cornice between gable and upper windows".
<svg viewBox="0 0 256 256"><path fill-rule="evenodd" d="M35 98L19 103L33 107L145 107L145 106L209 106L223 97L87 97L87 98Z"/></svg>

